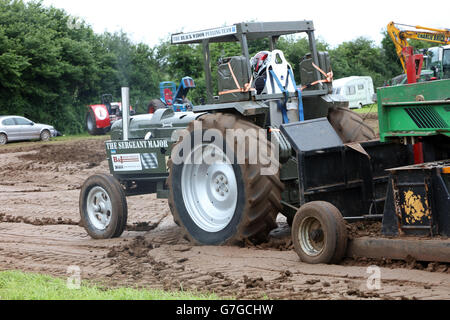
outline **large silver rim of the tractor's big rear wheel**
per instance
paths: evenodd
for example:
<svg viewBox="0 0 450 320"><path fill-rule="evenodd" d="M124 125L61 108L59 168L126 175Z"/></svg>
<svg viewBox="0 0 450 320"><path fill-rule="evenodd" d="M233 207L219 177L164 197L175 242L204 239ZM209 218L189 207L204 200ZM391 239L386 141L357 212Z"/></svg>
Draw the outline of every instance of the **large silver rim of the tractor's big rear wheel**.
<svg viewBox="0 0 450 320"><path fill-rule="evenodd" d="M194 148L188 159L192 163L186 163L181 173L186 209L202 230L219 232L228 226L237 206L238 187L233 166L213 144Z"/></svg>

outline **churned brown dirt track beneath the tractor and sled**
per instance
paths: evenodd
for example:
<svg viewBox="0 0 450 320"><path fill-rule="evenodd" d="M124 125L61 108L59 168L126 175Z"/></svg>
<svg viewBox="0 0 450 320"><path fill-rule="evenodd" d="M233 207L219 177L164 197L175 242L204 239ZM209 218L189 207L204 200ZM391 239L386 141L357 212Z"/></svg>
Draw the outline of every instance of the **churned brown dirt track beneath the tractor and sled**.
<svg viewBox="0 0 450 320"><path fill-rule="evenodd" d="M238 298L450 299L447 265L303 264L287 250L289 229L281 217L268 244L192 247L179 237L167 202L154 195L128 198L129 226L120 239L92 240L78 226L79 188L91 174L108 172L103 159L98 139L0 148L0 269L66 277L67 267L77 265L83 279L112 286ZM380 290L366 286L372 264L383 266Z"/></svg>

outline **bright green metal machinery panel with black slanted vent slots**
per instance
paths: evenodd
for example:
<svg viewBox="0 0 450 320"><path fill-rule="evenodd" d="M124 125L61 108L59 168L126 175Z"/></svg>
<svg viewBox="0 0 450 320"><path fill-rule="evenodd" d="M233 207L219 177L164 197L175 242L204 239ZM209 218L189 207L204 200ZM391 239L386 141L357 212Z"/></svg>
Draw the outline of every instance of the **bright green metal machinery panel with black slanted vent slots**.
<svg viewBox="0 0 450 320"><path fill-rule="evenodd" d="M382 142L398 137L450 137L450 80L378 89Z"/></svg>

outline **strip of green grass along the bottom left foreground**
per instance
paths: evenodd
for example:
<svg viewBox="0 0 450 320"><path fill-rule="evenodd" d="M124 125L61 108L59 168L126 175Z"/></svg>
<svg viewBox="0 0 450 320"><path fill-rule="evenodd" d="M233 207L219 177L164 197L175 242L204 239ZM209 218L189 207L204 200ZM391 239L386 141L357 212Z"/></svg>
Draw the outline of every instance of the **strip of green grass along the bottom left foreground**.
<svg viewBox="0 0 450 320"><path fill-rule="evenodd" d="M151 289L107 289L82 282L69 289L66 280L21 271L0 272L0 300L216 300L214 294Z"/></svg>

